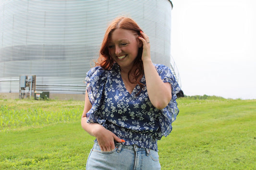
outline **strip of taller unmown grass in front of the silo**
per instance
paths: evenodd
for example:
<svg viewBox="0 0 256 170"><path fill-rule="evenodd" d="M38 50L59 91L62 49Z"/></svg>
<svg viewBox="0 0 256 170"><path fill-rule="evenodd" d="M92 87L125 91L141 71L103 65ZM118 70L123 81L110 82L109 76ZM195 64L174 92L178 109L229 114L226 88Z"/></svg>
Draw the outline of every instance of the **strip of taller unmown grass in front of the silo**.
<svg viewBox="0 0 256 170"><path fill-rule="evenodd" d="M0 131L77 121L82 101L0 100Z"/></svg>

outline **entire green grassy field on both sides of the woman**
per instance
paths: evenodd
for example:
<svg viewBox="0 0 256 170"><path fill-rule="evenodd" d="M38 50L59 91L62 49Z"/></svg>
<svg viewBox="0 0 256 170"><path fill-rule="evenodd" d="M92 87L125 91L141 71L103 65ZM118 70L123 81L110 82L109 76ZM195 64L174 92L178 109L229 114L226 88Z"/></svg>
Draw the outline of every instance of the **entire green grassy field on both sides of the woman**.
<svg viewBox="0 0 256 170"><path fill-rule="evenodd" d="M162 170L256 169L256 100L178 99L173 131L158 142ZM0 170L83 170L94 137L82 101L0 99Z"/></svg>

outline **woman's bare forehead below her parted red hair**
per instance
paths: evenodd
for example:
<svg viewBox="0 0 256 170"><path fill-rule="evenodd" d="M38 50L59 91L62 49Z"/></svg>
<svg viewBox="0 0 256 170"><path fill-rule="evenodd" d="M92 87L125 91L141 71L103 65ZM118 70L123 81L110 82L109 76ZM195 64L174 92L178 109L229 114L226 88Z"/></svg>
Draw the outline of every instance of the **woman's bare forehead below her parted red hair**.
<svg viewBox="0 0 256 170"><path fill-rule="evenodd" d="M122 40L128 40L128 41L133 41L136 38L136 33L131 30L125 30L125 29L115 29L111 36L110 36L110 41L111 42L116 42L116 41L122 41Z"/></svg>

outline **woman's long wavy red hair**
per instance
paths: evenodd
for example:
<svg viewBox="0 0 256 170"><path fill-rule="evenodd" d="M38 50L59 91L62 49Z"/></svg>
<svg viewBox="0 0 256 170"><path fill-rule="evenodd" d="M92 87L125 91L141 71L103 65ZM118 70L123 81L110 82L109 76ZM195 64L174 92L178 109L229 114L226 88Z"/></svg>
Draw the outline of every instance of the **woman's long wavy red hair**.
<svg viewBox="0 0 256 170"><path fill-rule="evenodd" d="M112 32L117 28L131 30L138 35L140 35L140 31L142 31L141 28L133 19L127 18L127 17L119 17L110 24L110 26L107 28L107 31L102 41L102 45L99 51L100 54L98 57L98 62L96 62L96 66L101 66L105 70L110 70L114 64L113 59L110 57L109 42L110 42ZM128 72L128 79L130 83L139 84L140 91L142 90L143 86L145 86L143 83L140 82L140 78L144 75L143 62L141 60L142 52L143 52L143 47L140 47L138 50L138 55L134 60L134 65L132 69ZM132 70L134 70L133 72L133 75L135 78L134 81L132 81L132 78L131 78Z"/></svg>

